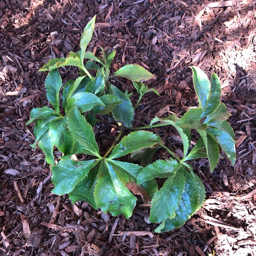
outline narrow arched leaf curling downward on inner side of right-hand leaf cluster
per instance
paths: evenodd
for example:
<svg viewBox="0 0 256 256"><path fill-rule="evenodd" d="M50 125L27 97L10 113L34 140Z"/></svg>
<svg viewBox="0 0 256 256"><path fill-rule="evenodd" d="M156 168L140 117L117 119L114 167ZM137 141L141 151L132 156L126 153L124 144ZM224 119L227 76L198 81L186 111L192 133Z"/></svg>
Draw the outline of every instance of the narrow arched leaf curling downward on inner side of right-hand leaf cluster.
<svg viewBox="0 0 256 256"><path fill-rule="evenodd" d="M157 116L155 116L150 125L156 123L157 121L160 121L162 123L166 123L166 124L170 124L172 126L175 127L175 129L180 133L180 136L182 138L182 141L183 141L183 152L184 152L184 157L187 155L187 152L188 152L188 149L189 149L189 145L190 145L190 140L191 140L191 132L190 132L190 129L189 128L186 128L186 127L180 127L177 124L177 122L179 121L180 119L174 115L170 115L168 117L165 117L165 118L159 118Z"/></svg>

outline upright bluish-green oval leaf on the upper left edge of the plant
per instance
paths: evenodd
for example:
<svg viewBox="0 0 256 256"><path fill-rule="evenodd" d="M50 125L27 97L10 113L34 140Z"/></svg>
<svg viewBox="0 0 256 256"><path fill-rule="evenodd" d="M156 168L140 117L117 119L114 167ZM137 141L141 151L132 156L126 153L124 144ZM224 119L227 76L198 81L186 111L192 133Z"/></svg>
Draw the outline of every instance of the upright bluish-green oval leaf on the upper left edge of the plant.
<svg viewBox="0 0 256 256"><path fill-rule="evenodd" d="M47 89L47 99L53 105L54 109L59 113L59 90L62 86L62 80L57 69L49 72L45 80Z"/></svg>

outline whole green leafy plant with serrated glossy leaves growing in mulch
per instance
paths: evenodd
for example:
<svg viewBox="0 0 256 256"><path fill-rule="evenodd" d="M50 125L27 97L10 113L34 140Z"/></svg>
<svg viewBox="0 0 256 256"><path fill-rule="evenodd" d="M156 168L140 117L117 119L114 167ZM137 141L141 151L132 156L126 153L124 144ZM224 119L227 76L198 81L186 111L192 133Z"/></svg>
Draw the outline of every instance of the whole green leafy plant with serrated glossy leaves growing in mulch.
<svg viewBox="0 0 256 256"><path fill-rule="evenodd" d="M202 70L192 67L199 107L190 108L181 118L175 115L155 117L150 126L145 127L174 127L183 141L182 159L163 145L159 136L143 127L122 138L124 126L132 126L134 110L130 95L111 84L109 79L123 76L132 80L139 101L149 91L157 95L158 92L142 83L154 76L138 65L124 66L111 75L109 68L115 51L101 48L101 57L86 52L94 26L95 17L85 27L79 52L69 53L67 58L50 60L40 69L49 71L45 87L53 109L43 106L31 111L28 123L35 121L35 142L31 146L38 144L46 161L52 165L53 193L68 194L72 203L86 201L94 209L109 211L113 216L123 214L128 218L137 200L131 191L134 194L140 191L145 203L151 204L150 222L160 223L156 232L180 227L200 209L205 199L204 185L188 161L206 157L210 171L213 171L218 163L219 147L232 165L236 159L234 132L226 121L229 113L225 104L220 102L220 81L216 74L212 74L209 81ZM84 59L87 60L85 65ZM67 65L78 67L81 76L62 85L58 68ZM90 74L91 70L96 70L95 77ZM97 114L112 115L116 122L122 123L116 143L122 139L104 156L100 155L93 131ZM199 134L192 149L191 129ZM63 153L62 160L56 165L54 146ZM160 147L166 148L171 158L149 164ZM86 160L70 159L74 154L84 154ZM122 157L128 154L140 165L122 161ZM162 187L158 187L156 178L165 179Z"/></svg>

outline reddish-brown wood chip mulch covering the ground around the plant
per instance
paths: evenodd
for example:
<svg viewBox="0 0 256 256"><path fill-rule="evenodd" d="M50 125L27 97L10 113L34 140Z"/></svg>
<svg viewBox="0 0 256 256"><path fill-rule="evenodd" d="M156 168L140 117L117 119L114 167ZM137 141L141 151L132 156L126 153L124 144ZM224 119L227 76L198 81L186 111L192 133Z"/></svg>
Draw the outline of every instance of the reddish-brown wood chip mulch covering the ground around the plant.
<svg viewBox="0 0 256 256"><path fill-rule="evenodd" d="M207 200L181 228L154 233L156 225L148 224L149 209L140 207L140 198L125 219L52 194L44 154L29 145L34 140L33 125L25 125L29 113L47 105L46 73L38 73L39 67L77 51L82 30L95 14L87 49L99 54L99 46L113 47L112 70L137 63L157 76L148 86L160 97L143 98L138 121L148 124L155 115L183 114L197 105L191 65L216 72L222 82L237 162L232 167L222 155L213 173L206 159L191 163ZM255 1L6 0L0 2L0 26L0 255L256 255ZM60 72L64 81L77 76L73 67ZM137 101L130 81L113 83L133 92ZM110 131L111 138L105 135ZM96 127L103 151L114 131L112 125ZM180 154L174 130L157 132ZM167 157L165 151L156 153L156 158Z"/></svg>

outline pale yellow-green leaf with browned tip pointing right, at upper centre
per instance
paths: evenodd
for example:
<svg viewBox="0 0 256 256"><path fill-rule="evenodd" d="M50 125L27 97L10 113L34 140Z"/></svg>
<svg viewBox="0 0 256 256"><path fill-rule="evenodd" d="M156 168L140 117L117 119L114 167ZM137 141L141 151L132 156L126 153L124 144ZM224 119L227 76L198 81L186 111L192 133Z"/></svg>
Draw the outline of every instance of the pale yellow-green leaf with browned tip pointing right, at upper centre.
<svg viewBox="0 0 256 256"><path fill-rule="evenodd" d="M126 65L118 69L112 76L123 76L127 79L143 82L154 79L155 76L139 65Z"/></svg>

